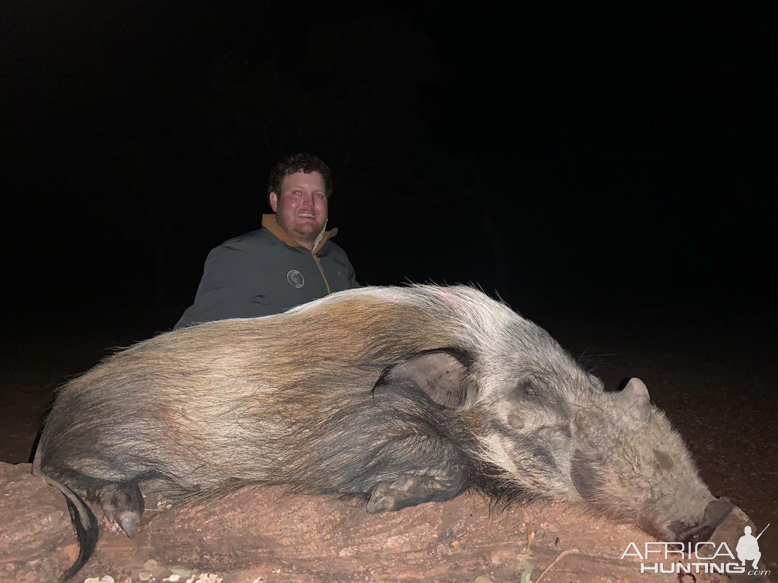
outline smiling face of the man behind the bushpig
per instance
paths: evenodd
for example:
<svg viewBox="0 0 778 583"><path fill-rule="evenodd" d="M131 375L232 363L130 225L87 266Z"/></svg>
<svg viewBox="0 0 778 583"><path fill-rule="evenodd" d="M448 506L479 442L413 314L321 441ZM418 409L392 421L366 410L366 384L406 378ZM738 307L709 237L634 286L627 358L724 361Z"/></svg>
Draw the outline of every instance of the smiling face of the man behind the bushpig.
<svg viewBox="0 0 778 583"><path fill-rule="evenodd" d="M327 194L320 173L289 174L281 185L281 194L270 193L275 222L297 243L313 246L327 224Z"/></svg>

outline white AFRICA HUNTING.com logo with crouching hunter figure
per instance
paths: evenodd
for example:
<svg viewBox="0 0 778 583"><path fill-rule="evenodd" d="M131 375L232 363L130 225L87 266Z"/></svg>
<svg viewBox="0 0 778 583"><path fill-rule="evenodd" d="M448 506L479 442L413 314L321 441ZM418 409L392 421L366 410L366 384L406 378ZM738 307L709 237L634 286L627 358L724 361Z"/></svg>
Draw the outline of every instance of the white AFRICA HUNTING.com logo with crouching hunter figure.
<svg viewBox="0 0 778 583"><path fill-rule="evenodd" d="M769 525L767 525L769 526ZM767 530L767 526L762 532ZM757 563L762 558L759 552L759 535L751 534L751 527L743 529L743 536L732 553L727 543L706 541L703 543L646 543L641 551L635 543L629 543L622 553L626 557L640 559L641 573L745 573L748 575L769 575L769 571L760 571Z"/></svg>

